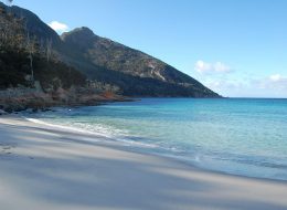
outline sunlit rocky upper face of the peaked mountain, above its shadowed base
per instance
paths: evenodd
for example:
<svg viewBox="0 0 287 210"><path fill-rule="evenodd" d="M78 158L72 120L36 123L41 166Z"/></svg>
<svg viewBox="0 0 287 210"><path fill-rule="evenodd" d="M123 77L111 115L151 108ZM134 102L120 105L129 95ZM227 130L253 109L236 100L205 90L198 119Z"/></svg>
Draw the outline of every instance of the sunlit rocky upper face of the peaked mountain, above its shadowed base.
<svg viewBox="0 0 287 210"><path fill-rule="evenodd" d="M61 38L65 44L81 52L86 60L105 69L167 83L196 83L195 80L158 59L109 39L100 38L88 28L75 29L63 33Z"/></svg>

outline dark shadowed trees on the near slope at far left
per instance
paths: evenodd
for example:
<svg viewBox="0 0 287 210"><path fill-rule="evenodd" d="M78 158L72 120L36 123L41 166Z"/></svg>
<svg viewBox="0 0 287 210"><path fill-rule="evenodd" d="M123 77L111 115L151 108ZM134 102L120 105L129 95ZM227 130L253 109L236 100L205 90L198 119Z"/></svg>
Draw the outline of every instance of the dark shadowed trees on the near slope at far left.
<svg viewBox="0 0 287 210"><path fill-rule="evenodd" d="M24 19L0 8L0 88L33 86L40 81L44 90L72 85L84 86L86 77L61 61L49 59L47 45L29 36ZM46 43L45 43L46 44Z"/></svg>

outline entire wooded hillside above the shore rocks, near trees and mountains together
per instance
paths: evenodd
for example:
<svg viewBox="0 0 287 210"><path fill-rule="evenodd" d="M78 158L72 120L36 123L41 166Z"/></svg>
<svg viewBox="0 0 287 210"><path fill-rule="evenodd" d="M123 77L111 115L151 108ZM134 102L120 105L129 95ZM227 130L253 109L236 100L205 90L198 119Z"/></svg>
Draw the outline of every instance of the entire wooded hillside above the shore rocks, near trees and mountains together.
<svg viewBox="0 0 287 210"><path fill-rule="evenodd" d="M0 7L7 10L4 4ZM0 87L29 85L39 80L44 88L93 83L128 96L220 97L194 78L140 51L97 36L87 28L59 36L29 10L10 7L11 18L0 29L11 29L14 46L1 45ZM3 21L4 22L4 21ZM7 28L6 24L9 27ZM25 25L25 27L23 27ZM24 31L24 33L22 33ZM73 66L73 67L71 67ZM97 86L100 86L97 85ZM118 91L119 90L119 91Z"/></svg>

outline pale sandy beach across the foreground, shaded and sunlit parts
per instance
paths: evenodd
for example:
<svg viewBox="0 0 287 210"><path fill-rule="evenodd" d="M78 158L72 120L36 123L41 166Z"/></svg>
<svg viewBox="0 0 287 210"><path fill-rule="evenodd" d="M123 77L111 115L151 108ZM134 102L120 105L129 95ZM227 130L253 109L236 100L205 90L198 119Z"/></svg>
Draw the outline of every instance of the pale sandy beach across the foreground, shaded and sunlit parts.
<svg viewBox="0 0 287 210"><path fill-rule="evenodd" d="M287 209L287 182L200 170L0 117L0 209Z"/></svg>

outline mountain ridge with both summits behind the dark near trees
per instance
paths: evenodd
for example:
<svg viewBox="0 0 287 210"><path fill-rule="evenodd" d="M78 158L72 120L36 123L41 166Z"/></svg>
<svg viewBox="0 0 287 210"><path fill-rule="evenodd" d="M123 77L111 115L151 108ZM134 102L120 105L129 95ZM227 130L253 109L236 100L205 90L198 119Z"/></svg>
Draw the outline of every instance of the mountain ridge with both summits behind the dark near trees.
<svg viewBox="0 0 287 210"><path fill-rule="evenodd" d="M88 28L78 28L60 36L31 11L15 6L9 10L25 20L29 33L42 44L51 42L53 53L60 61L92 81L118 86L124 95L220 97L167 63L100 38Z"/></svg>

